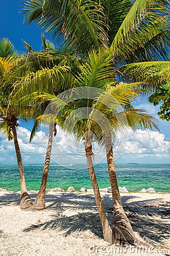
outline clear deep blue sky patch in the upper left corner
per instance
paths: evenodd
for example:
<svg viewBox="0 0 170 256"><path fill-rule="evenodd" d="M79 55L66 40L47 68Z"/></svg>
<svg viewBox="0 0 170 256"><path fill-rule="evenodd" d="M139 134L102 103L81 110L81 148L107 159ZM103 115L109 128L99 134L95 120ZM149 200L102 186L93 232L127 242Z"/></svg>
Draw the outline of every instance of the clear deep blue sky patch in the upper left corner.
<svg viewBox="0 0 170 256"><path fill-rule="evenodd" d="M33 49L40 51L42 31L35 23L29 26L23 24L23 15L20 13L21 7L22 0L1 1L0 37L10 39L20 52L25 51L22 39L30 44ZM45 36L49 38L48 35Z"/></svg>

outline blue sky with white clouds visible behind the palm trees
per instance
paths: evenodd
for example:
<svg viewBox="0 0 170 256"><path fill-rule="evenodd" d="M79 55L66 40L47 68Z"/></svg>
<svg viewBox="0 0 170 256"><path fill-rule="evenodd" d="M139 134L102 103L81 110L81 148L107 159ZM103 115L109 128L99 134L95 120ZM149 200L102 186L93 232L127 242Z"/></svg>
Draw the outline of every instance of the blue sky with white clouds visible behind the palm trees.
<svg viewBox="0 0 170 256"><path fill-rule="evenodd" d="M41 47L41 30L36 24L26 26L23 24L22 14L19 14L21 1L18 0L6 0L1 1L1 16L0 16L0 38L8 38L14 44L15 48L19 52L24 52L24 44L22 39L30 44L36 51ZM45 35L50 39L50 35ZM145 96L141 97L141 100L135 103L135 108L145 109L148 113L154 115L159 119L156 114L159 110L158 106L154 106L147 102ZM37 131L32 143L29 144L30 131L32 129L32 121L28 123L20 122L18 128L19 144L23 155L23 162L29 163L43 163L45 156L45 141L48 137L45 131L42 129ZM126 145L124 145L124 152L117 150L116 162L117 163L170 163L170 122L160 121L160 131L146 131L137 130L135 132L129 130L128 139ZM77 146L74 144L73 138L68 135L63 138L63 135L59 132L56 141L54 141L54 150L52 158L54 162L62 164L65 163L80 163L86 160L84 158L83 145ZM44 142L44 144L42 143ZM70 149L71 146L74 147ZM62 152L59 152L59 148L63 148ZM76 148L77 147L77 148ZM121 151L123 151L121 148ZM56 150L56 151L55 151ZM101 159L104 159L104 152L98 152L98 148L94 145L94 151L96 154L96 163ZM59 160L57 159L59 155ZM99 157L97 157L99 155ZM0 134L0 163L16 163L16 156L14 151L13 142L8 142L6 138Z"/></svg>

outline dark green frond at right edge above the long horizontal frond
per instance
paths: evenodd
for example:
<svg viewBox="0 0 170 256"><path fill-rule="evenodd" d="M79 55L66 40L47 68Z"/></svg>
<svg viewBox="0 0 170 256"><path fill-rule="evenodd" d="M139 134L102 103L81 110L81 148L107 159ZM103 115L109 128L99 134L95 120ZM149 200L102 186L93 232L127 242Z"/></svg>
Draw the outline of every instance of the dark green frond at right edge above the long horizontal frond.
<svg viewBox="0 0 170 256"><path fill-rule="evenodd" d="M154 22L152 25L155 26ZM124 62L169 60L170 30L164 27L164 23L160 28L153 31L148 27L147 31L145 28L138 35L132 33L129 42L120 48Z"/></svg>

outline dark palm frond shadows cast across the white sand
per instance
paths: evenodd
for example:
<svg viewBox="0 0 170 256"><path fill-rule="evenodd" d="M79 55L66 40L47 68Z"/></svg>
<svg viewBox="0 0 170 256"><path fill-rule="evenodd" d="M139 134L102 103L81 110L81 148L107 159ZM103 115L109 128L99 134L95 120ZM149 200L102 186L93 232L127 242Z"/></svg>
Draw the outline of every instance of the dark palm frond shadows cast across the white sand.
<svg viewBox="0 0 170 256"><path fill-rule="evenodd" d="M36 194L30 194L34 200ZM0 207L3 205L19 205L19 194L11 193L0 196ZM159 197L159 196L158 196ZM168 225L169 202L161 202L160 198L128 202L134 196L122 196L122 204L135 232L153 246L164 245L169 237ZM112 222L112 198L110 194L103 195L103 203L108 220ZM46 210L52 209L51 219L44 223L28 226L24 232L35 229L54 229L56 232L67 236L74 232L91 232L103 238L99 214L92 194L86 193L56 193L46 194ZM76 212L76 214L75 214Z"/></svg>

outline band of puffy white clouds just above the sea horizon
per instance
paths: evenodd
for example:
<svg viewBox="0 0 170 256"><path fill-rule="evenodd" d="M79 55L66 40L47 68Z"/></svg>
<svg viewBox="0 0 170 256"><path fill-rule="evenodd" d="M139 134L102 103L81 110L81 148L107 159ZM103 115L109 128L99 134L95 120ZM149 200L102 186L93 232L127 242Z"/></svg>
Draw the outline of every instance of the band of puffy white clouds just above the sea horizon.
<svg viewBox="0 0 170 256"><path fill-rule="evenodd" d="M31 131L22 126L19 126L17 130L23 161L42 163L48 145L48 127L46 130L38 131L31 143L29 143ZM93 151L95 163L99 163L105 158L105 148L99 148L97 143L93 144ZM0 134L0 152L2 163L7 162L8 159L11 163L16 162L14 142L8 142L2 134ZM115 160L120 158L119 162L135 162L136 159L150 162L151 158L158 158L163 162L164 159L170 158L170 142L165 139L163 133L158 131L128 130L128 139L127 132L120 135L114 148L114 158ZM59 164L86 162L83 141L76 143L73 135L63 134L57 127L57 136L53 139L52 159Z"/></svg>

